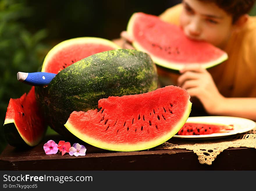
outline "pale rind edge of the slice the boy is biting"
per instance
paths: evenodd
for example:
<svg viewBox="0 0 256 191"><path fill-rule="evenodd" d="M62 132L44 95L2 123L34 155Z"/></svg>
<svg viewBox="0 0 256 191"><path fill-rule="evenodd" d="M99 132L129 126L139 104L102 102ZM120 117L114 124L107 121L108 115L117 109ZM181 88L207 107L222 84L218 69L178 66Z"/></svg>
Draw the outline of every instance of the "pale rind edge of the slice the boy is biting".
<svg viewBox="0 0 256 191"><path fill-rule="evenodd" d="M133 36L133 33L132 33L132 31L133 31L133 24L134 24L134 21L136 20L136 17L137 17L137 14L134 13L131 16L131 18L129 19L129 22L127 24L127 33L130 36ZM170 62L168 60L161 59L158 56L155 56L154 53L145 50L145 48L143 48L136 41L132 42L132 45L134 46L135 49L143 51L145 53L148 53L151 56L151 58L154 61L154 63L156 63L159 66L162 66L162 67L168 68L168 69L172 69L172 70L180 70L180 69L183 69L183 67L184 67L184 64L182 62ZM224 62L227 59L228 59L227 53L223 52L223 55L220 56L218 59L212 60L212 61L206 62L206 63L200 63L200 66L202 66L205 69L211 68L211 67L214 67L214 66ZM190 63L190 64L193 65L193 64L198 64L198 63Z"/></svg>

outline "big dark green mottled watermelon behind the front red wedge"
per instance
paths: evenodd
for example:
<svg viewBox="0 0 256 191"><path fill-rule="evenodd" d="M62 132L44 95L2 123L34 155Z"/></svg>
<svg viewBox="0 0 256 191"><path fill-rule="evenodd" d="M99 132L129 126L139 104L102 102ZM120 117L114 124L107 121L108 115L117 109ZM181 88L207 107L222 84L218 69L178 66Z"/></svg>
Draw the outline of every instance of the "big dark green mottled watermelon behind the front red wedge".
<svg viewBox="0 0 256 191"><path fill-rule="evenodd" d="M109 96L141 94L157 89L157 69L150 56L115 49L88 56L61 70L47 87L36 88L36 97L47 123L64 136L73 111L87 111Z"/></svg>

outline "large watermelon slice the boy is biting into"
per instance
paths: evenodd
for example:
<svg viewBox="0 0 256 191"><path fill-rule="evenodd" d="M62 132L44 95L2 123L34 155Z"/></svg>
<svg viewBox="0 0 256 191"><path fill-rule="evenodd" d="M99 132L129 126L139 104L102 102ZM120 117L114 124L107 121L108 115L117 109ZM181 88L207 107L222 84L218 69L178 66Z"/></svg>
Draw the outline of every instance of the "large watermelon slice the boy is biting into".
<svg viewBox="0 0 256 191"><path fill-rule="evenodd" d="M179 70L187 64L213 67L227 59L227 53L213 45L186 37L179 26L145 13L134 13L127 25L133 46L148 53L162 67Z"/></svg>

